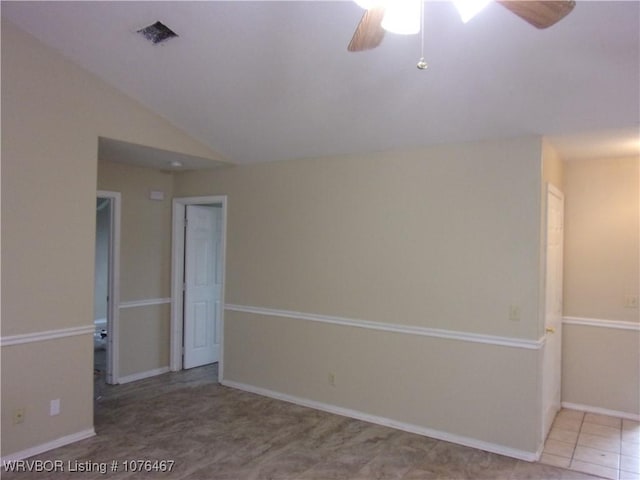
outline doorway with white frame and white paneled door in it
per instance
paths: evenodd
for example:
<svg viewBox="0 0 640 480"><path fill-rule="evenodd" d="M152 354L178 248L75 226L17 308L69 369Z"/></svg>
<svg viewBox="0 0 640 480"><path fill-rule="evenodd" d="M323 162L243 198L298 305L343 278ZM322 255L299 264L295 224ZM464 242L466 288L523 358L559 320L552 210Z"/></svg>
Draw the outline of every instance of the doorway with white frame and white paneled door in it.
<svg viewBox="0 0 640 480"><path fill-rule="evenodd" d="M172 371L218 362L223 375L226 196L173 200Z"/></svg>

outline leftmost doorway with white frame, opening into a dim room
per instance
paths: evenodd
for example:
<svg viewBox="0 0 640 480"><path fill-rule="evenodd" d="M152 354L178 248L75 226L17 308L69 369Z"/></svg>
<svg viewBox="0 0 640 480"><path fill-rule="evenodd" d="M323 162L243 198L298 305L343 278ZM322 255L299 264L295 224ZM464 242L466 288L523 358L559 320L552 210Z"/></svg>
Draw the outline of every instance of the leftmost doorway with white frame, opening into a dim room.
<svg viewBox="0 0 640 480"><path fill-rule="evenodd" d="M96 199L94 274L96 385L118 383L119 265L120 193L100 190Z"/></svg>

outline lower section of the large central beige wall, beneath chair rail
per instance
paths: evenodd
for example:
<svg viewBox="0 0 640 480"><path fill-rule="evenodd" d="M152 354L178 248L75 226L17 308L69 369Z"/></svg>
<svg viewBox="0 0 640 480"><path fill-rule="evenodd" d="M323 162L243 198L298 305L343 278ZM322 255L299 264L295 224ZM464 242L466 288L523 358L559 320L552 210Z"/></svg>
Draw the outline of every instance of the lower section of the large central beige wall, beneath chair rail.
<svg viewBox="0 0 640 480"><path fill-rule="evenodd" d="M514 456L539 446L538 355L299 319L225 317L227 380Z"/></svg>

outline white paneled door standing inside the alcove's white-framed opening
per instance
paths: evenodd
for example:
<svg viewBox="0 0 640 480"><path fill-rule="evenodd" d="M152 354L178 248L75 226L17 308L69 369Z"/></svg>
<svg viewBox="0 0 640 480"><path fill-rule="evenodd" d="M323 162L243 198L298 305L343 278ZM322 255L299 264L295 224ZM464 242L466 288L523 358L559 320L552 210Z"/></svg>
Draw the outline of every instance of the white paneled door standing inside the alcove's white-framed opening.
<svg viewBox="0 0 640 480"><path fill-rule="evenodd" d="M222 208L187 205L184 263L184 368L220 357Z"/></svg>

